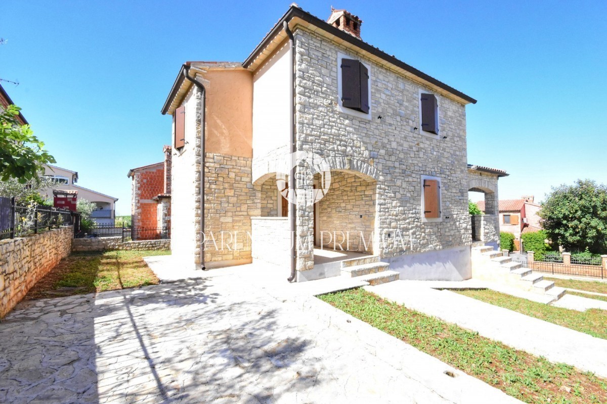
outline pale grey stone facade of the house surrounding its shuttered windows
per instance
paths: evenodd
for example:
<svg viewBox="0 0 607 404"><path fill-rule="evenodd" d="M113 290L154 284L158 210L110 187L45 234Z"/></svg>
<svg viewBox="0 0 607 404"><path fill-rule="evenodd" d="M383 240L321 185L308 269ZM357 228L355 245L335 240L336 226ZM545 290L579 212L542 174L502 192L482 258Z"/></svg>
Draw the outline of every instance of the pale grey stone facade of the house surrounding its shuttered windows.
<svg viewBox="0 0 607 404"><path fill-rule="evenodd" d="M295 39L297 150L334 158L336 170L376 171L371 175L377 180L376 229L399 230L412 238L411 248L381 242L381 256L470 245L465 105L302 28L295 31ZM339 111L338 52L371 66L371 119ZM420 90L438 99L440 136L417 129ZM424 175L441 179L442 214L436 222L422 220ZM311 188L312 177L309 168L300 165L297 188ZM313 268L312 216L310 205L298 205L300 271Z"/></svg>

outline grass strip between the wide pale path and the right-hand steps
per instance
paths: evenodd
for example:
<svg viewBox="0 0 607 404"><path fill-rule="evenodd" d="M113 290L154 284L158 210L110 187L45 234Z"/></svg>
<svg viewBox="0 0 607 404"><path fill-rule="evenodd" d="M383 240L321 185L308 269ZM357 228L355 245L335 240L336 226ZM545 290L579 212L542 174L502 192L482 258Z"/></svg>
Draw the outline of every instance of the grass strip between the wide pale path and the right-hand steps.
<svg viewBox="0 0 607 404"><path fill-rule="evenodd" d="M550 323L575 329L593 337L607 339L607 311L591 309L586 311L569 310L566 308L549 306L544 303L532 302L509 294L493 290L465 290L455 291L464 296L473 297L492 305L518 311L526 316L535 317Z"/></svg>

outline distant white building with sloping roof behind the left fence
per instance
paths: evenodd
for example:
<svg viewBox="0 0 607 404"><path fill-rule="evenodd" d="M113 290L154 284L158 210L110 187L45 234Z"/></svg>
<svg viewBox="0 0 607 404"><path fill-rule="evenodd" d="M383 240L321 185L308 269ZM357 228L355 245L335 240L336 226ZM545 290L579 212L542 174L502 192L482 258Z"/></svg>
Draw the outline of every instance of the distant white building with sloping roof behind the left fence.
<svg viewBox="0 0 607 404"><path fill-rule="evenodd" d="M78 191L78 199L86 199L97 205L97 209L91 214L91 219L100 225L113 225L115 223L115 203L118 198L76 185L78 172L66 168L45 164L44 176L55 179L56 182L55 187L42 191L41 194L45 198L52 199L53 190Z"/></svg>

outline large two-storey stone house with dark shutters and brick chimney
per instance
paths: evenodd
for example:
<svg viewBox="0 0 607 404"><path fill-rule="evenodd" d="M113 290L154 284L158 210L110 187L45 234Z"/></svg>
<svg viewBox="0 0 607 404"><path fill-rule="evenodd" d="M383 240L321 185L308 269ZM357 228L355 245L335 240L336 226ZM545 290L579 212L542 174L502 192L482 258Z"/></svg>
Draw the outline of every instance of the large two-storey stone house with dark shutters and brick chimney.
<svg viewBox="0 0 607 404"><path fill-rule="evenodd" d="M245 62L183 64L162 108L174 121L171 248L183 265L254 260L302 281L367 257L401 279L468 279L469 190L493 201L482 241L498 242L507 174L467 164L475 99L362 41L361 24L291 5ZM280 159L292 150L291 171Z"/></svg>

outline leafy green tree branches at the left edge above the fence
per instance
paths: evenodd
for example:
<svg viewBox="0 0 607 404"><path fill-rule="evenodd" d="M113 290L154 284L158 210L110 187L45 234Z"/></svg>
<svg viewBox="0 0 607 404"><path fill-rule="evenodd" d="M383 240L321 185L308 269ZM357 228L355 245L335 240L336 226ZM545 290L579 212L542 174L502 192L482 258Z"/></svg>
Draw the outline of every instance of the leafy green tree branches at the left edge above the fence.
<svg viewBox="0 0 607 404"><path fill-rule="evenodd" d="M34 136L30 125L18 121L21 108L8 105L0 111L0 180L16 178L21 184L38 177L42 164L55 158L44 150L44 142Z"/></svg>

